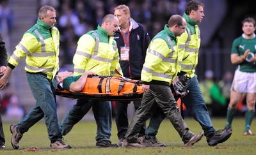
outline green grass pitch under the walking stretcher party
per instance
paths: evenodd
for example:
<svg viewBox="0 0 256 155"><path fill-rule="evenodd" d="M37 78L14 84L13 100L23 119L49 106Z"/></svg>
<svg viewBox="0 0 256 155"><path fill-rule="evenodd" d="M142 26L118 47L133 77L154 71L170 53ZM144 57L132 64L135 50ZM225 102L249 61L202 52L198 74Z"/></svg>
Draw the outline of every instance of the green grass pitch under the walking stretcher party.
<svg viewBox="0 0 256 155"><path fill-rule="evenodd" d="M202 131L198 122L186 117L186 123L189 129L194 133ZM66 144L72 146L68 150L56 150L50 148L50 141L47 135L47 129L44 121L40 121L29 129L20 140L20 148L14 150L10 144L10 125L12 122L4 122L4 134L6 137L6 149L0 149L0 154L256 154L256 136L244 136L244 119L236 118L233 121L232 136L224 143L210 147L207 145L206 138L203 137L200 142L193 147L185 147L177 131L173 128L170 121L164 120L160 126L157 138L160 142L167 145L164 148L144 148L144 149L126 149L124 147L97 149L95 148L96 123L95 121L81 121L72 131L65 136ZM225 126L225 118L214 118L212 124L216 129ZM253 122L252 131L256 132ZM116 136L115 121L112 124L113 143L118 142Z"/></svg>

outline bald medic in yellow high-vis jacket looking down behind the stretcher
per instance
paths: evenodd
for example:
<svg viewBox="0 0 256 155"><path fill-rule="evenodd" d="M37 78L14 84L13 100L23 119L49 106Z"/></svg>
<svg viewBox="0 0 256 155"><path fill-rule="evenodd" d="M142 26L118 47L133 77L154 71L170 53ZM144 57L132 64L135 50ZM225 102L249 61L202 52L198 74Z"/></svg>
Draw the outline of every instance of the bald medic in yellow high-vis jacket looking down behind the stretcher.
<svg viewBox="0 0 256 155"><path fill-rule="evenodd" d="M96 30L90 31L77 43L76 54L73 58L74 75L82 75L84 71L92 71L97 75L122 75L119 64L119 54L114 40L119 20L112 14L102 18L102 24ZM117 70L115 72L115 70ZM99 82L101 90L102 80ZM118 147L111 144L112 111L110 101L99 101L79 98L60 122L62 135L67 135L73 126L79 122L92 108L97 123L96 147Z"/></svg>

